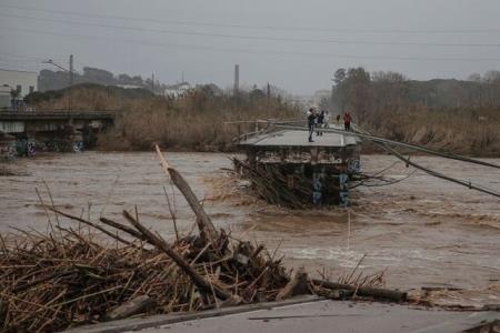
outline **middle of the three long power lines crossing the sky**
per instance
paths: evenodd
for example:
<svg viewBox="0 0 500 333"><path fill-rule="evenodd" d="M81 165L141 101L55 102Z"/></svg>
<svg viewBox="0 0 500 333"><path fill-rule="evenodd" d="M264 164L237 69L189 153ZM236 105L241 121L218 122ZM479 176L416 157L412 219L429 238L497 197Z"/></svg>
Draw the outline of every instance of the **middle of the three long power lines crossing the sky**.
<svg viewBox="0 0 500 333"><path fill-rule="evenodd" d="M369 46L500 48L500 44L498 44L498 43L431 43L431 42L380 42L380 41L377 42L377 41L349 41L349 40L337 40L337 39L286 38L286 37L228 34L228 33L211 33L211 32L200 32L200 31L183 31L183 30L167 30L167 29L113 26L113 24L104 24L104 23L89 23L89 22L78 22L78 21L60 20L60 19L44 19L44 18L34 18L34 17L6 14L6 13L0 13L0 17L33 20L33 21L41 21L41 22L57 22L57 23L64 23L64 24L72 24L72 26L121 29L121 30L140 31L140 32L159 32L159 33L168 33L168 34L217 37L217 38L262 40L262 41L266 40L266 41L288 41L288 42L303 42L303 43L369 44Z"/></svg>

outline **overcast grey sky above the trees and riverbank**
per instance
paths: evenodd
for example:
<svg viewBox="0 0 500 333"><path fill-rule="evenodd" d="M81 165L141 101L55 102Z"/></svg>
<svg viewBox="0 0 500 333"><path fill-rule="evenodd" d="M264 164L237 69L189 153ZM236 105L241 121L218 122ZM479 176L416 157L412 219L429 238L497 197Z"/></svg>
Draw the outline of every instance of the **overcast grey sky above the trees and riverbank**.
<svg viewBox="0 0 500 333"><path fill-rule="evenodd" d="M79 13L79 14L77 14ZM293 30L297 29L297 30ZM76 69L176 82L331 85L341 67L412 79L500 69L498 0L0 0L0 68Z"/></svg>

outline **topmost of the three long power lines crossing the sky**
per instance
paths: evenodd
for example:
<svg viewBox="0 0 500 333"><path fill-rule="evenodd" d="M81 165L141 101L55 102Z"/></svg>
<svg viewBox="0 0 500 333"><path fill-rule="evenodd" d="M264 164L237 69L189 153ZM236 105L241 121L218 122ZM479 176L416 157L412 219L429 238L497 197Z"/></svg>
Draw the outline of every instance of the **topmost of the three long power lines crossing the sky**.
<svg viewBox="0 0 500 333"><path fill-rule="evenodd" d="M21 7L12 4L0 4L3 8L39 11L46 13L70 14L78 17L98 18L98 19L113 19L136 22L151 22L160 24L178 24L178 26L193 26L193 27L214 27L214 28L240 28L240 29L259 29L259 30L276 30L276 31L314 31L314 32L343 32L343 33L492 33L500 32L498 28L487 29L424 29L424 30L408 30L408 29L352 29L352 28L308 28L308 27L278 27L278 26L251 26L251 24L227 24L213 22L198 22L198 21L179 21L179 20L158 20L158 19L142 19L124 16L96 14L66 10L48 10L36 7Z"/></svg>

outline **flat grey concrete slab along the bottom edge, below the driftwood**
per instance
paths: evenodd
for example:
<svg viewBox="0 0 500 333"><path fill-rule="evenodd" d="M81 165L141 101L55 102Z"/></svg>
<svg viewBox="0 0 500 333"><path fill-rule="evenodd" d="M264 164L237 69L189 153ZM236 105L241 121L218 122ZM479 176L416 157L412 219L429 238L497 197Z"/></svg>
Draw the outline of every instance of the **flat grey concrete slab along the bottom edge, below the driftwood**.
<svg viewBox="0 0 500 333"><path fill-rule="evenodd" d="M297 300L288 305L276 303L260 309L223 309L211 311L211 315L199 313L198 319L193 315L184 319L163 315L126 320L81 327L73 332L462 332L500 320L499 312L450 312L350 301L302 300L293 304L294 302Z"/></svg>

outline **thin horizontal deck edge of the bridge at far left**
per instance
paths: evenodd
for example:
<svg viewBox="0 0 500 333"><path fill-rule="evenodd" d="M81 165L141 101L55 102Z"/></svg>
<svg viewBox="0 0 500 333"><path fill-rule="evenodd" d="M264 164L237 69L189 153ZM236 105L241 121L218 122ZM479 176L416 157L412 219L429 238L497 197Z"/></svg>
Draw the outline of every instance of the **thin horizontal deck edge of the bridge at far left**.
<svg viewBox="0 0 500 333"><path fill-rule="evenodd" d="M114 120L116 111L13 111L0 110L0 120Z"/></svg>

